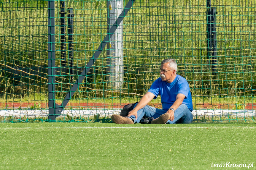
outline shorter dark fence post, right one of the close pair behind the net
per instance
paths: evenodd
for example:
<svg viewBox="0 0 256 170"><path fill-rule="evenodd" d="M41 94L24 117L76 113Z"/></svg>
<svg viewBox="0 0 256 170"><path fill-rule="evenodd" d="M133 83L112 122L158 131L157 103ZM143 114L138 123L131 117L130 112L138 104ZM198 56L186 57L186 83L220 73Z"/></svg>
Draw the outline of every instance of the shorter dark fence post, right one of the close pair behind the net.
<svg viewBox="0 0 256 170"><path fill-rule="evenodd" d="M69 44L69 74L71 80L74 73L74 61L73 61L73 8L68 8L68 44Z"/></svg>

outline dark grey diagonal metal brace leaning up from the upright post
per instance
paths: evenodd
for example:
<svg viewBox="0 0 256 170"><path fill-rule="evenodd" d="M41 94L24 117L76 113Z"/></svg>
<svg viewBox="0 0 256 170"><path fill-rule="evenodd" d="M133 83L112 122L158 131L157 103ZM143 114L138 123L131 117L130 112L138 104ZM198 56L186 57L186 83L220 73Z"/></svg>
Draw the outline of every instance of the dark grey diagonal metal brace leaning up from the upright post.
<svg viewBox="0 0 256 170"><path fill-rule="evenodd" d="M61 114L61 112L63 111L63 109L66 107L66 105L68 104L69 100L71 99L71 97L74 95L74 93L77 91L79 84L82 83L82 81L84 80L86 74L89 72L90 68L93 66L95 60L98 58L98 56L101 54L101 52L103 51L104 47L106 46L106 44L109 42L109 39L112 37L112 35L115 33L117 27L120 25L120 23L123 21L124 17L126 16L126 14L129 12L129 10L131 9L133 3L136 0L129 0L128 3L126 4L125 8L123 9L123 12L119 15L119 17L117 18L116 22L113 24L113 26L111 27L111 29L107 32L106 37L104 38L104 40L101 42L101 44L99 45L98 49L95 51L95 53L93 54L92 58L90 59L90 61L86 64L85 69L83 69L82 73L79 75L77 81L74 83L74 85L72 86L72 88L69 90L68 94L66 95L65 99L63 100L63 102L61 103L61 105L55 104L55 114L54 115L50 115L49 116L59 116Z"/></svg>

